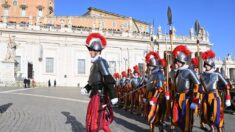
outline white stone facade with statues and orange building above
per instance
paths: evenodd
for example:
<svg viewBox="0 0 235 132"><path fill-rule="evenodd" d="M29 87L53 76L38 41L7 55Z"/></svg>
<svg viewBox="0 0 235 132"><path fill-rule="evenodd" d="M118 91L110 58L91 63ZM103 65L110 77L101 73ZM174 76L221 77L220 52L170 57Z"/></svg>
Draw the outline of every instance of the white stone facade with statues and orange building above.
<svg viewBox="0 0 235 132"><path fill-rule="evenodd" d="M112 73L134 65L143 71L149 50L162 57L170 51L169 35L161 26L155 34L149 23L132 17L92 7L82 16L54 16L54 0L0 2L0 85L16 85L29 78L38 86L46 86L48 80L56 80L58 86L84 86L91 66L85 40L91 32L107 38L102 56L107 58ZM208 33L204 29L202 33L201 52L212 47ZM173 42L173 48L187 45L195 56L197 44L192 29L186 36L177 35L174 29ZM8 54L14 61L6 59Z"/></svg>

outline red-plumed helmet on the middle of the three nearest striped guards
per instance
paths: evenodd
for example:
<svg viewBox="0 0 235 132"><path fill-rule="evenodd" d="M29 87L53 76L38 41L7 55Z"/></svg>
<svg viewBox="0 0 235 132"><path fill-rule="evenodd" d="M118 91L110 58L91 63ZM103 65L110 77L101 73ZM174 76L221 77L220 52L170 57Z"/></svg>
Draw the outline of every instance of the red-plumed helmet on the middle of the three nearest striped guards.
<svg viewBox="0 0 235 132"><path fill-rule="evenodd" d="M189 60L190 55L190 50L184 45L179 45L173 50L174 59L182 63L186 63Z"/></svg>

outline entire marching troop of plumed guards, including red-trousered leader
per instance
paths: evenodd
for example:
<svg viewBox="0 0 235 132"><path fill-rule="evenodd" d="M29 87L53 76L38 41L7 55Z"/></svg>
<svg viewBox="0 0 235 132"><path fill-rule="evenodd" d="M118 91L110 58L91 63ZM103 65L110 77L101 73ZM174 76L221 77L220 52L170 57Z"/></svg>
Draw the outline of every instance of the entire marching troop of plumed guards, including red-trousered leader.
<svg viewBox="0 0 235 132"><path fill-rule="evenodd" d="M201 129L206 130L208 125L212 132L222 131L224 106L231 105L232 85L215 71L212 50L191 59L187 46L178 45L171 55L166 55L167 60L150 51L145 56L144 74L136 65L133 71L128 69L112 76L107 61L101 57L106 45L99 33L91 33L86 39L92 63L88 84L81 89L82 95L90 97L87 132L111 131L111 104L147 118L151 132L156 126L162 132L167 120L172 130L178 127L184 132L192 131L196 115Z"/></svg>

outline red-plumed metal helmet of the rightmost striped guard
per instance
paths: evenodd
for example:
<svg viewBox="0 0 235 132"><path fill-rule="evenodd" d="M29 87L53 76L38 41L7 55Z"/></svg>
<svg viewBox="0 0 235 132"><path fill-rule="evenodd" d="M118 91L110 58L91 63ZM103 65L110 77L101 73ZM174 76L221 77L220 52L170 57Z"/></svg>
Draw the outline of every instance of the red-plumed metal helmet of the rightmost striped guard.
<svg viewBox="0 0 235 132"><path fill-rule="evenodd" d="M204 66L209 65L215 67L215 53L212 50L203 52L202 59L204 60Z"/></svg>

